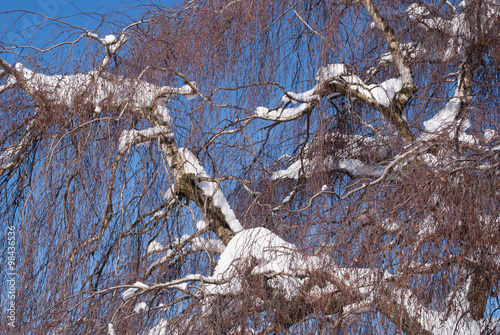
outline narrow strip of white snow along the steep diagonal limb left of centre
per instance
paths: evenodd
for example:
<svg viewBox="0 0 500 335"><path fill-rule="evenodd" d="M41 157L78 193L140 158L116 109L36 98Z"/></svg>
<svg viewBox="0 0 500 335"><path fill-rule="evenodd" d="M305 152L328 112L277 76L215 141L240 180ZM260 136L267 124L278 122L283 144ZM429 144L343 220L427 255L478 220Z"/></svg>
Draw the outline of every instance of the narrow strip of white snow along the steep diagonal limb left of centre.
<svg viewBox="0 0 500 335"><path fill-rule="evenodd" d="M205 172L203 166L201 166L198 158L196 158L191 151L185 148L179 148L179 155L181 156L182 163L184 164L185 173L194 174L197 178L210 178L210 176ZM236 218L231 206L229 206L229 203L224 197L219 185L211 181L197 181L196 184L206 196L212 197L214 206L220 209L231 230L235 233L241 231L243 227Z"/></svg>

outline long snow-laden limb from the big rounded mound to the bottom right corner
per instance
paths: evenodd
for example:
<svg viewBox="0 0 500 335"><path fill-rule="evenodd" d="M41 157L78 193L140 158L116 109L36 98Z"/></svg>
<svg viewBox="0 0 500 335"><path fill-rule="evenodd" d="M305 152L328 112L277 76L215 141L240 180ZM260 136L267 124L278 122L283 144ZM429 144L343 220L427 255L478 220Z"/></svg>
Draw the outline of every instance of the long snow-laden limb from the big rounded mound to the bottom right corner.
<svg viewBox="0 0 500 335"><path fill-rule="evenodd" d="M329 274L321 286L308 287L308 278ZM214 273L204 285L207 302L215 296L234 296L244 290L248 275L264 276L270 289L290 304L333 299L338 292L354 299L340 308L343 315L374 309L400 324L408 334L479 334L491 329L491 320L475 321L469 313L470 279L450 294L444 310L424 307L409 289L395 285L394 276L377 269L339 268L327 255L308 256L265 228L237 234L221 254ZM305 296L305 300L295 300ZM207 306L206 312L210 311Z"/></svg>

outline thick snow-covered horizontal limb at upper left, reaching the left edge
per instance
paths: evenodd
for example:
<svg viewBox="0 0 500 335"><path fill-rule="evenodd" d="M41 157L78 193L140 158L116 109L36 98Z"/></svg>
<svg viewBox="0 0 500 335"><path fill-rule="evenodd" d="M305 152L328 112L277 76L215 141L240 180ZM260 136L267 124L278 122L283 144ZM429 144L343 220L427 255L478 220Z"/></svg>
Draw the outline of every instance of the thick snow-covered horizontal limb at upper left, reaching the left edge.
<svg viewBox="0 0 500 335"><path fill-rule="evenodd" d="M10 72L4 87L19 87L32 96L43 95L52 104L68 108L90 104L99 112L103 104L122 106L128 103L132 109L143 110L153 108L159 98L170 99L173 95L191 96L196 93L189 85L157 86L106 72L45 75L33 72L21 63L11 67L2 60L1 65L8 66Z"/></svg>

